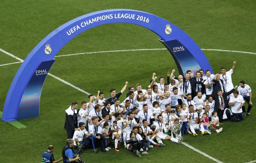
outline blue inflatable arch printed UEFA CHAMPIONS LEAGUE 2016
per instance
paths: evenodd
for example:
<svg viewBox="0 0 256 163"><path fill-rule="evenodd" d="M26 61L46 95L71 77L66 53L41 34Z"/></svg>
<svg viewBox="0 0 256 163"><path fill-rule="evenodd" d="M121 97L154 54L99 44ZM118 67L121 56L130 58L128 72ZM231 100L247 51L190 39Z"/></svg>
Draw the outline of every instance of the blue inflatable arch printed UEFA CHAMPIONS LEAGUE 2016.
<svg viewBox="0 0 256 163"><path fill-rule="evenodd" d="M210 70L211 66L198 45L174 24L153 14L110 9L75 18L46 36L27 56L9 88L3 110L5 122L39 116L41 90L54 63L55 55L72 38L95 26L108 23L132 23L143 26L160 37L172 55L179 74L187 70Z"/></svg>

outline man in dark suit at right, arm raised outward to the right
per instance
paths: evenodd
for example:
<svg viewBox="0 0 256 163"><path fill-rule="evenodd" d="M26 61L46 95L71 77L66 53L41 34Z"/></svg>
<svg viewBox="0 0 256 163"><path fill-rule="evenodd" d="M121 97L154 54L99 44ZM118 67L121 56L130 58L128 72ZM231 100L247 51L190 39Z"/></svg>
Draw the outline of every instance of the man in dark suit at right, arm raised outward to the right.
<svg viewBox="0 0 256 163"><path fill-rule="evenodd" d="M226 108L229 108L227 96L229 96L235 89L237 89L237 86L235 86L229 92L224 92L224 93L222 92L221 89L219 89L219 90L217 90L218 95L214 96L215 97L215 108L216 108L216 111L218 113L218 117L219 117L220 122L223 121L222 116L224 114L224 110ZM230 120L230 110L226 110L226 115L227 115L227 118Z"/></svg>

